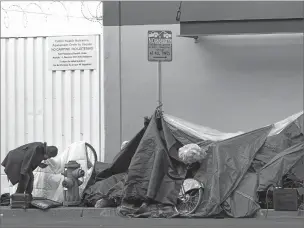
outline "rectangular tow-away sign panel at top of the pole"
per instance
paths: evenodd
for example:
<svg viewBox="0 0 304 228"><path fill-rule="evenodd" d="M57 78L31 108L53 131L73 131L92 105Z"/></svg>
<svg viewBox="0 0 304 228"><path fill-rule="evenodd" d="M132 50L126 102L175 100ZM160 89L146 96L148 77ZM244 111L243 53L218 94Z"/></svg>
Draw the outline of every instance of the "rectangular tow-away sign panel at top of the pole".
<svg viewBox="0 0 304 228"><path fill-rule="evenodd" d="M172 61L172 32L148 31L148 61Z"/></svg>

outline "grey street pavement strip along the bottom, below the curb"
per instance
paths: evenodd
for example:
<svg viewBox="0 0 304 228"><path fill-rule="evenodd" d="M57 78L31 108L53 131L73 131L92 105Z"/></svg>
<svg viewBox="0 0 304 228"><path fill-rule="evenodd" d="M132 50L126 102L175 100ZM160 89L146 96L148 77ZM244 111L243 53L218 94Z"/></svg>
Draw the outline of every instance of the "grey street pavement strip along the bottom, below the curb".
<svg viewBox="0 0 304 228"><path fill-rule="evenodd" d="M46 213L47 214L47 213ZM4 218L3 228L303 228L304 219L129 219L121 217Z"/></svg>

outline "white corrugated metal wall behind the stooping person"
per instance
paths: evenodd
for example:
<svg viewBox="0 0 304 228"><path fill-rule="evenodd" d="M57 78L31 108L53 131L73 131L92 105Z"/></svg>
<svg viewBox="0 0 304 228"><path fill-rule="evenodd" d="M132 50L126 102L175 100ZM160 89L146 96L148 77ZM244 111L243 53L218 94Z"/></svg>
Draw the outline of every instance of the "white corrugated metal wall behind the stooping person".
<svg viewBox="0 0 304 228"><path fill-rule="evenodd" d="M96 35L98 53L100 44ZM47 37L1 38L1 157L28 142L62 151L84 140L103 160L99 54L97 70L50 71L47 46Z"/></svg>

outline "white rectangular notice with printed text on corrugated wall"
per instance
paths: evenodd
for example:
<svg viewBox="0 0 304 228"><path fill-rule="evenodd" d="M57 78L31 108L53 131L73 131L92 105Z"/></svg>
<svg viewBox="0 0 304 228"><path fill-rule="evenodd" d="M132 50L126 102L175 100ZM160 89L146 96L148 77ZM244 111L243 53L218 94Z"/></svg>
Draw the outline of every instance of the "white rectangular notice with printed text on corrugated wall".
<svg viewBox="0 0 304 228"><path fill-rule="evenodd" d="M48 38L49 70L95 70L95 36L59 36Z"/></svg>

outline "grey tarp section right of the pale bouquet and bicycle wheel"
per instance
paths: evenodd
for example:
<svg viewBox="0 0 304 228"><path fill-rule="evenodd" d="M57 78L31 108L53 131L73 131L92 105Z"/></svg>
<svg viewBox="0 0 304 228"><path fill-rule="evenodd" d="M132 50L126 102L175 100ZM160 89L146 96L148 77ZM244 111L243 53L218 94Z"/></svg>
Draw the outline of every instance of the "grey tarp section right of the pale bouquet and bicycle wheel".
<svg viewBox="0 0 304 228"><path fill-rule="evenodd" d="M196 179L206 182L204 183L205 202L194 216L208 217L219 214L223 210L222 204L242 182L270 130L271 126L213 144L209 151L211 162L208 162L206 167L201 166L202 169L196 175ZM202 178L204 175L208 177Z"/></svg>

